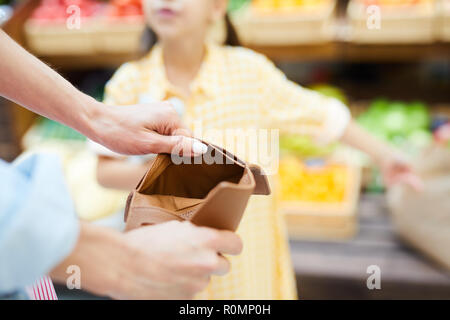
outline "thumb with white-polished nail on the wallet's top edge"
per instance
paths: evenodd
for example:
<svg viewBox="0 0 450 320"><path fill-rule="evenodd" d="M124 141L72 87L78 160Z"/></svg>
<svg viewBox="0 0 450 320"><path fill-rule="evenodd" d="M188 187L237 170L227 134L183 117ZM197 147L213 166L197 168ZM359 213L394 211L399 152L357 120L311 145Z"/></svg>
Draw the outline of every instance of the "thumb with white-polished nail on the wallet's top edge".
<svg viewBox="0 0 450 320"><path fill-rule="evenodd" d="M201 141L186 136L165 136L154 134L154 149L156 153L176 154L185 157L200 156L208 151L208 147Z"/></svg>

